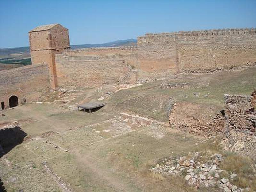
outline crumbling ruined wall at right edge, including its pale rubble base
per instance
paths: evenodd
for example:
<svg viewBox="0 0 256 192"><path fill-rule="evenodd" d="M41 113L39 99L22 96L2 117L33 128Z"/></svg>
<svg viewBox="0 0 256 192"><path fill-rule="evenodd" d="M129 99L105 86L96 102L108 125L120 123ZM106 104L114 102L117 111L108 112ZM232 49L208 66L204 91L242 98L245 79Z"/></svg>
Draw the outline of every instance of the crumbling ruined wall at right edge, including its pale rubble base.
<svg viewBox="0 0 256 192"><path fill-rule="evenodd" d="M224 95L226 138L221 144L225 150L256 158L255 91L252 96Z"/></svg>

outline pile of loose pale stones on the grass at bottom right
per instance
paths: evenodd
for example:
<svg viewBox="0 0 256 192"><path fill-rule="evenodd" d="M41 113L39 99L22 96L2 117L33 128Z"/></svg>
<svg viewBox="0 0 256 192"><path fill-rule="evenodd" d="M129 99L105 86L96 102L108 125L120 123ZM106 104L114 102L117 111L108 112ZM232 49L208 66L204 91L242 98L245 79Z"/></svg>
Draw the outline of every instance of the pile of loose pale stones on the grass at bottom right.
<svg viewBox="0 0 256 192"><path fill-rule="evenodd" d="M189 185L199 188L218 186L220 190L225 192L240 192L247 191L248 188L238 188L229 181L234 180L236 173L230 173L228 178L220 177L221 172L226 172L219 168L220 162L223 161L221 154L214 154L212 156L200 156L199 152L189 154L190 157L168 158L155 167L151 168L153 172L159 172L163 175L179 175L184 176ZM209 159L203 163L200 158Z"/></svg>

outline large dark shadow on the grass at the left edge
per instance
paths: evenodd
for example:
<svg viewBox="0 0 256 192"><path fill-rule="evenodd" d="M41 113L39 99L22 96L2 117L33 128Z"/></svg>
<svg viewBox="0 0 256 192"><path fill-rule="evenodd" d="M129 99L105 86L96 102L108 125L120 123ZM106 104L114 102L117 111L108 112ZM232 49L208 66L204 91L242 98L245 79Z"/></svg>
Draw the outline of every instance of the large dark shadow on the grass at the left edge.
<svg viewBox="0 0 256 192"><path fill-rule="evenodd" d="M27 133L19 126L0 130L0 158L23 142Z"/></svg>

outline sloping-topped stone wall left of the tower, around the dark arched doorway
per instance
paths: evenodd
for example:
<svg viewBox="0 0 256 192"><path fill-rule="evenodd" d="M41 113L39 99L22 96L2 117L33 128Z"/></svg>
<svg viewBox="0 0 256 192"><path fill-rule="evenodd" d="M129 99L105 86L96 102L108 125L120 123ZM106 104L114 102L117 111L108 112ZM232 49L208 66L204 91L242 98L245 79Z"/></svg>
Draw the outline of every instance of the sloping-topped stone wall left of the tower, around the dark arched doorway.
<svg viewBox="0 0 256 192"><path fill-rule="evenodd" d="M9 106L9 98L16 95L19 103L38 100L50 91L47 65L33 65L0 71L0 101Z"/></svg>

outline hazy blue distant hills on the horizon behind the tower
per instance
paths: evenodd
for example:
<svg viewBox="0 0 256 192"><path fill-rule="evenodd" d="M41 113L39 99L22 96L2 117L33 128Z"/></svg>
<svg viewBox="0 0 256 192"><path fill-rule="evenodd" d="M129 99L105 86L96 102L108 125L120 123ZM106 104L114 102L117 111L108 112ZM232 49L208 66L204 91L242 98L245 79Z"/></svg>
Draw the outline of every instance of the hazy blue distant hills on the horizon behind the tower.
<svg viewBox="0 0 256 192"><path fill-rule="evenodd" d="M71 49L83 49L90 47L119 47L119 46L134 46L137 44L136 39L118 40L103 44L81 44L70 45ZM0 56L8 56L10 54L22 54L23 57L29 57L29 47L3 48L0 49Z"/></svg>

